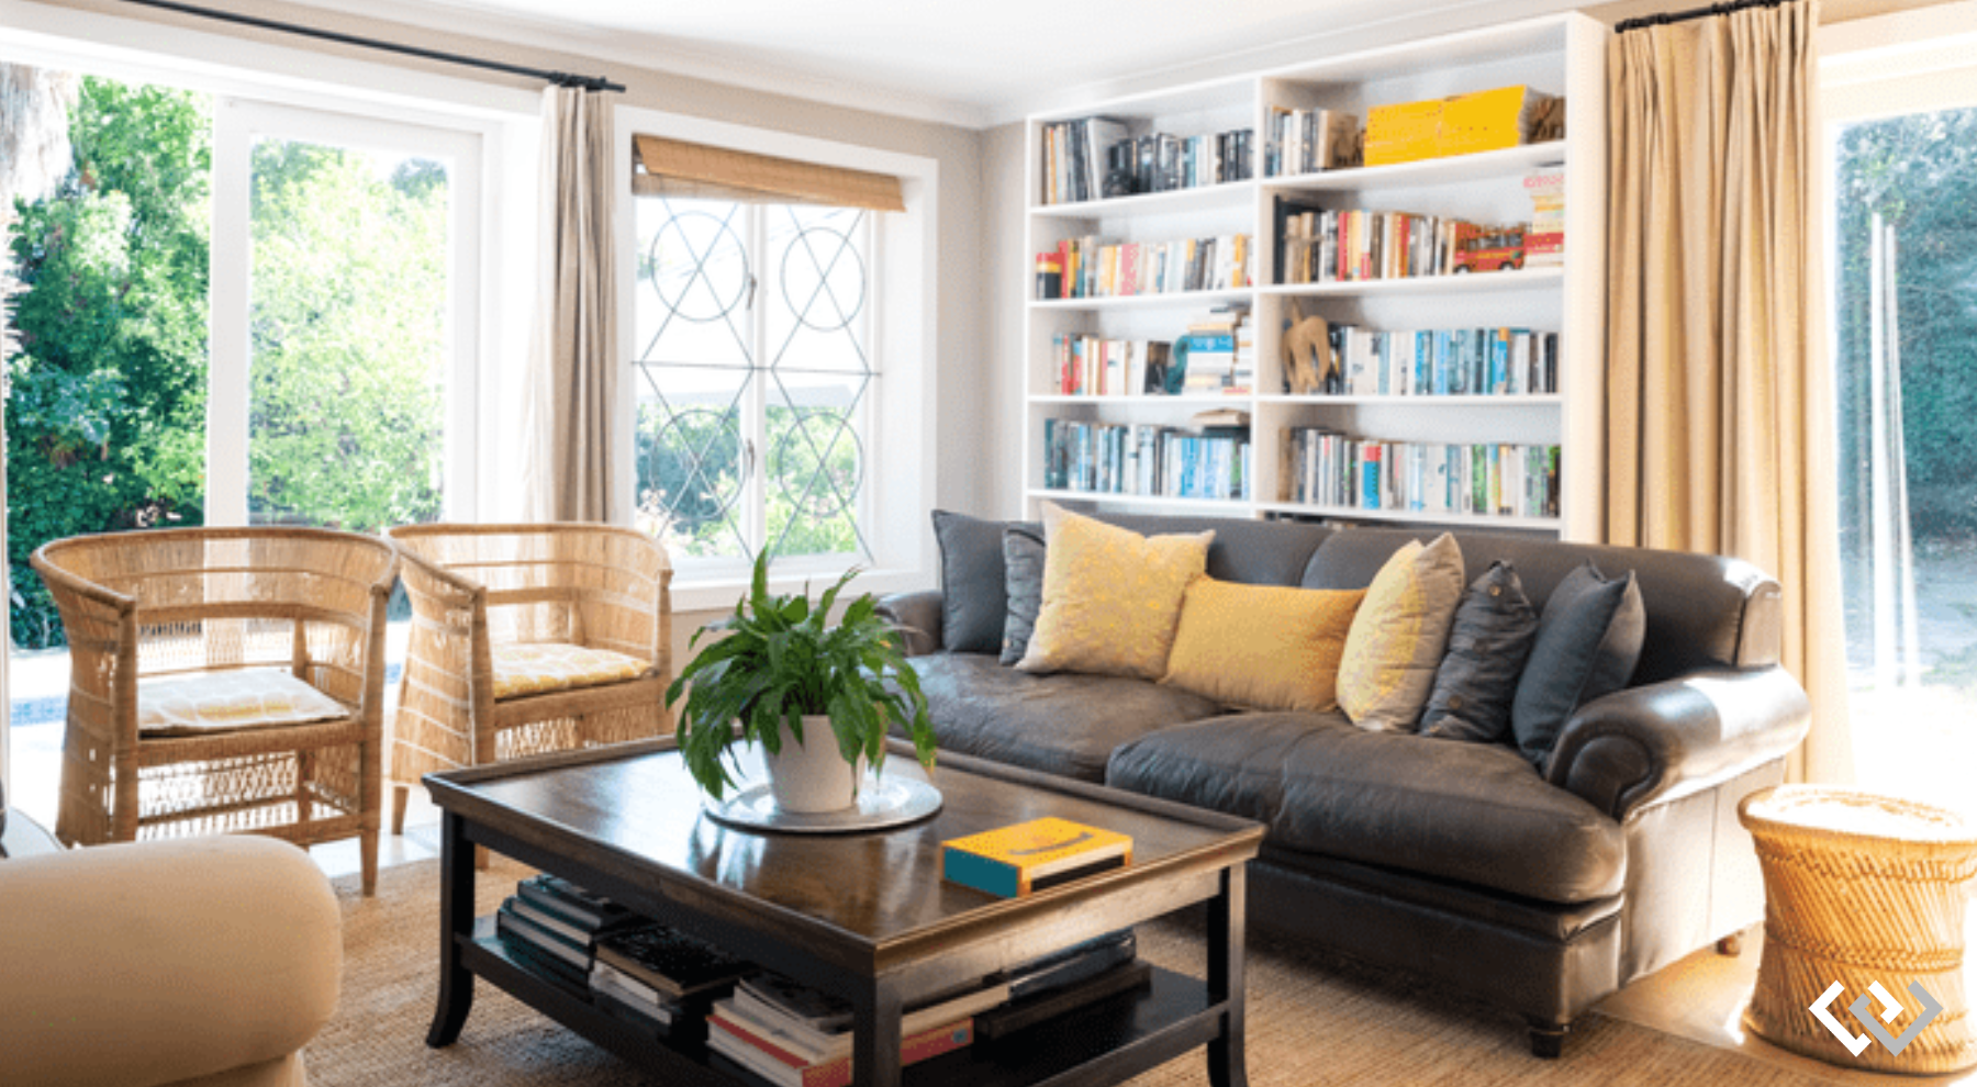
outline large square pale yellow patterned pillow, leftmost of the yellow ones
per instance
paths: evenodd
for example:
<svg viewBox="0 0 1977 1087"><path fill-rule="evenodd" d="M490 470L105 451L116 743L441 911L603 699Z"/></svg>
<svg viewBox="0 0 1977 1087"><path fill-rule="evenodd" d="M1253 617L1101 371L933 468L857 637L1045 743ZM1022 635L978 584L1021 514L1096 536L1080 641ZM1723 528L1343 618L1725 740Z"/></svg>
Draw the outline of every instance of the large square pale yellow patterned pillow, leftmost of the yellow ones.
<svg viewBox="0 0 1977 1087"><path fill-rule="evenodd" d="M1044 607L1016 668L1159 680L1214 532L1141 536L1044 506Z"/></svg>

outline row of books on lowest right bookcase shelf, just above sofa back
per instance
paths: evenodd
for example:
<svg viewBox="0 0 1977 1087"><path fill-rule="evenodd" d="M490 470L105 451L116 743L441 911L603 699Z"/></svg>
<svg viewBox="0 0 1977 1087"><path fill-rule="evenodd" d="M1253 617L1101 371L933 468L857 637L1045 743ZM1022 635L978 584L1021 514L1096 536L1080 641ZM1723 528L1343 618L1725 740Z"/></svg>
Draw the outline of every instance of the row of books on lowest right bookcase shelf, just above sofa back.
<svg viewBox="0 0 1977 1087"><path fill-rule="evenodd" d="M1421 514L1558 516L1556 445L1354 439L1325 427L1281 435L1277 498Z"/></svg>

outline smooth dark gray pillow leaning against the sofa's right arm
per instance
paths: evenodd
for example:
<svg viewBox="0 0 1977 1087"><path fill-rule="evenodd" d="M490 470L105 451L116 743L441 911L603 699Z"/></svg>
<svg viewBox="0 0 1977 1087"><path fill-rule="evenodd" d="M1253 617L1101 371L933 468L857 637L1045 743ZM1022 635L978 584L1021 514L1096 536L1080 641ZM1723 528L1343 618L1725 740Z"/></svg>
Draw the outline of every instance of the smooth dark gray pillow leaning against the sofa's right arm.
<svg viewBox="0 0 1977 1087"><path fill-rule="evenodd" d="M1534 767L1544 769L1574 710L1627 686L1645 636L1647 609L1631 569L1607 579L1588 561L1552 589L1510 706L1516 749Z"/></svg>

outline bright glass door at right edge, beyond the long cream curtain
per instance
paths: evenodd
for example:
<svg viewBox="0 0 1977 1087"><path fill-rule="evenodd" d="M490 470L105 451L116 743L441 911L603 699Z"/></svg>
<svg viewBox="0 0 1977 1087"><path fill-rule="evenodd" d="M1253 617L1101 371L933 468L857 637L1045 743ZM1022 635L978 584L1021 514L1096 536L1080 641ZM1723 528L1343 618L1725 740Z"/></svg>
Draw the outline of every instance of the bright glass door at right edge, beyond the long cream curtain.
<svg viewBox="0 0 1977 1087"><path fill-rule="evenodd" d="M1904 20L1848 28L1858 53L1841 30L1823 65L1848 708L1860 785L1955 804L1977 771L1977 36L1890 53Z"/></svg>

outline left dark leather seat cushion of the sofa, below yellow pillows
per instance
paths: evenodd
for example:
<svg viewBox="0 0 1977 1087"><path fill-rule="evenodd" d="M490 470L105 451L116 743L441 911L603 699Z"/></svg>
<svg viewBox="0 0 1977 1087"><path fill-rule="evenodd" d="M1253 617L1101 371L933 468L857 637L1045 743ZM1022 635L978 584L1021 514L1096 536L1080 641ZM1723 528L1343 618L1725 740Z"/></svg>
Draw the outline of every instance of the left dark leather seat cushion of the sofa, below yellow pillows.
<svg viewBox="0 0 1977 1087"><path fill-rule="evenodd" d="M1222 711L1147 680L1018 672L988 654L915 656L919 690L943 751L1032 771L1103 781L1113 747L1176 721Z"/></svg>

